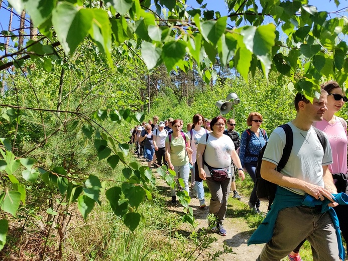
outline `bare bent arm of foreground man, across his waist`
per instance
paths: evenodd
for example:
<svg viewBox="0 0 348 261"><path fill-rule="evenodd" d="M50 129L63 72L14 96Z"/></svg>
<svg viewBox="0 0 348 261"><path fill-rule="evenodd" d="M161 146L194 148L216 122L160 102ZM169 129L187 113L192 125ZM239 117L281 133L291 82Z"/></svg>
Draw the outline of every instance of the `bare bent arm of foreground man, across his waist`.
<svg viewBox="0 0 348 261"><path fill-rule="evenodd" d="M325 188L322 188L317 185L313 185L303 180L285 176L282 173L276 171L276 167L277 166L275 164L269 161L262 161L261 177L264 178L265 180L268 180L272 183L278 184L283 187L301 189L305 191L307 194L313 196L315 199L324 200L324 197L326 197L332 203L337 204L332 199L331 193ZM332 203L329 203L329 206L333 206Z"/></svg>

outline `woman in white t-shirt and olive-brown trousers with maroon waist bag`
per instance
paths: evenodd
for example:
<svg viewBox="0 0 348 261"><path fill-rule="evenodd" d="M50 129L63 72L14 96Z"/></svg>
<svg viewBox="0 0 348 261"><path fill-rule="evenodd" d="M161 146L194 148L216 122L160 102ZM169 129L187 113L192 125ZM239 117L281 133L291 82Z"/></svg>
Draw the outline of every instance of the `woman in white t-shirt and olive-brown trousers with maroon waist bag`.
<svg viewBox="0 0 348 261"><path fill-rule="evenodd" d="M210 122L212 132L204 134L200 138L197 147L198 174L202 180L206 180L211 194L209 213L216 217L216 223L210 224L210 229L222 236L226 235L226 230L223 228L222 223L226 215L227 199L231 185L231 160L238 167L238 173L242 180L245 178L235 145L228 136L223 134L225 123L226 119L224 117L214 117ZM214 173L214 169L226 170L228 173L227 178L220 181L217 181L216 178L214 179L211 176L211 173Z"/></svg>

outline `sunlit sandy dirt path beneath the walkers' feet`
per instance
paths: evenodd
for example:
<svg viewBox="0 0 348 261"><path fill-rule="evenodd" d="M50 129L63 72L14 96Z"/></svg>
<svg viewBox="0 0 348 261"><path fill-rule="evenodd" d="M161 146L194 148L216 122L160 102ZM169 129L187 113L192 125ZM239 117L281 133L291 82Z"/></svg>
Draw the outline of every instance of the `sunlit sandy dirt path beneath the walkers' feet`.
<svg viewBox="0 0 348 261"><path fill-rule="evenodd" d="M145 162L144 162L145 165ZM156 169L153 170L155 177L156 177L156 184L159 186L162 190L167 190L168 195L170 194L169 186L166 184L166 182L159 177L156 174ZM164 193L165 194L165 193ZM169 197L168 197L169 200ZM242 197L242 202L246 204L246 208L248 206L248 200L249 198ZM193 208L193 214L195 217L196 222L198 223L197 229L201 227L207 227L207 215L209 213L209 202L206 202L207 206L201 210L199 209L199 200L196 198L191 198L190 206ZM172 211L182 212L183 207L181 205L178 206L172 206L169 204L169 209ZM228 208L231 208L229 205ZM263 212L266 212L266 204L263 204L261 206L261 210ZM228 211L228 209L227 209ZM214 233L213 236L217 238L217 241L213 243L213 247L215 247L214 252L217 250L222 250L222 244L225 242L228 246L232 247L234 253L226 253L220 256L219 260L236 260L236 261L252 261L256 260L256 258L259 256L261 249L263 248L263 244L258 245L247 245L247 241L254 231L251 229L247 221L245 219L241 218L234 218L230 217L229 215L226 215L224 224L224 228L227 230L226 236L220 236L217 233Z"/></svg>

